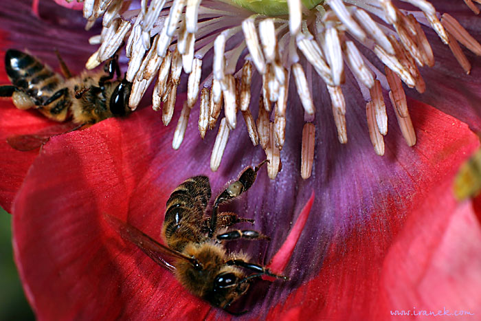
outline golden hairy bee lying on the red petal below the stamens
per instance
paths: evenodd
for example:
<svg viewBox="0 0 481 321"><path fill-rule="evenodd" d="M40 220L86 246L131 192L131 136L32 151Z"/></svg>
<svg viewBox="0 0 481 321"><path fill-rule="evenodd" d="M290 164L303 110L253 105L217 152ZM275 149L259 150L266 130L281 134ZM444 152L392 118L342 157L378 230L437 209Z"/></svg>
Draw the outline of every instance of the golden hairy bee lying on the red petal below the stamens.
<svg viewBox="0 0 481 321"><path fill-rule="evenodd" d="M196 176L180 184L166 203L161 236L167 246L120 219L107 215L107 220L123 239L174 272L190 293L227 309L245 294L255 278L273 276L287 280L267 267L249 262L243 254L227 253L223 246L224 241L234 239L269 239L254 230L227 230L236 223L254 221L240 218L234 212L219 212L222 203L238 197L254 184L258 170L266 162L245 168L238 180L215 199L210 216L206 215L211 197L208 177ZM172 263L168 258L173 259Z"/></svg>

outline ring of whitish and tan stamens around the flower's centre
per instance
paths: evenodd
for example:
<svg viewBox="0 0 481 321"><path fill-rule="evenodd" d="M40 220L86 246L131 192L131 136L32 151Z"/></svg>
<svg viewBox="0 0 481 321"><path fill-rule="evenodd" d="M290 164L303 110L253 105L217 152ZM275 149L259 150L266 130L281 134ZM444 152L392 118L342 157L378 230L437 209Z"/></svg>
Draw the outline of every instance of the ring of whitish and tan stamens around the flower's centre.
<svg viewBox="0 0 481 321"><path fill-rule="evenodd" d="M384 154L386 107L394 109L406 143L413 146L416 133L404 87L423 93L426 85L418 68L435 63L421 24L432 27L449 45L467 74L471 63L459 43L481 56L480 43L451 15L436 12L427 0L403 0L412 10L396 8L391 0L230 1L151 0L150 5L142 1L141 9L131 11L125 11L123 0L85 0L84 4L87 27L104 14L102 34L91 38L91 43L101 45L89 58L87 69L111 57L126 39L126 79L133 82L131 109L154 81L153 109L161 109L162 121L169 124L181 73L188 74L187 100L172 148L181 146L190 111L199 106L201 137L220 123L210 159L213 171L221 164L229 136L238 131L241 113L252 144L265 151L269 177L274 179L282 168L280 155L289 121L286 110L293 109L287 102L294 95L300 98L304 113L300 172L302 178L309 178L315 155L315 111L326 108L313 100L313 90L320 90L313 88L313 79L324 82L338 140L346 144L346 113L354 108L344 100L346 70L355 79L351 85L363 96L363 121L375 153ZM478 12L471 0L465 3ZM250 12L240 10L239 5ZM211 68L202 66L204 57L212 61ZM254 77L261 80L260 87L251 87ZM294 88L289 82L295 90L289 91Z"/></svg>

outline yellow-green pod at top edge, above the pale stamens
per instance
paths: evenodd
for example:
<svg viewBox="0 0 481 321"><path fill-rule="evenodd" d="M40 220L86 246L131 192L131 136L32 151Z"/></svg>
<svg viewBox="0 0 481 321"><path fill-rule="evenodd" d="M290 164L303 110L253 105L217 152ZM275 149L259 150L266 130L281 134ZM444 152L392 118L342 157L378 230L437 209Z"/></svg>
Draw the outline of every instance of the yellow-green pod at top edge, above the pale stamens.
<svg viewBox="0 0 481 321"><path fill-rule="evenodd" d="M265 16L284 16L289 14L287 0L232 0L241 7ZM311 10L324 0L302 0L302 4Z"/></svg>

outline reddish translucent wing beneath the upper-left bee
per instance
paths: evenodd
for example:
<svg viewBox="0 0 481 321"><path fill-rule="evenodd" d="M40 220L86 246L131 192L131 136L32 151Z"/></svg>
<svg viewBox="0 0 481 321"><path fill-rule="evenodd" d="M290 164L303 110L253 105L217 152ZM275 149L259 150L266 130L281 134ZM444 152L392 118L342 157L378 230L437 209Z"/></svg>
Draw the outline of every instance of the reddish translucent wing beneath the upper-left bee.
<svg viewBox="0 0 481 321"><path fill-rule="evenodd" d="M12 148L17 151L32 151L36 148L40 148L43 144L48 142L50 137L69 133L79 129L82 125L76 125L71 122L65 124L58 124L56 126L49 126L43 131L38 131L38 133L30 135L14 135L7 137L7 142Z"/></svg>

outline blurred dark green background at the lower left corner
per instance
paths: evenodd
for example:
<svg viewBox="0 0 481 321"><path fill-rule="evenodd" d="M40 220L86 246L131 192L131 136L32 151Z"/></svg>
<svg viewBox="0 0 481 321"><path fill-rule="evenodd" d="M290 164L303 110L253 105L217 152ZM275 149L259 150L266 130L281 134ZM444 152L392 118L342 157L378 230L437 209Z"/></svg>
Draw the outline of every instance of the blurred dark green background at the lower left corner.
<svg viewBox="0 0 481 321"><path fill-rule="evenodd" d="M35 320L12 253L12 216L0 208L0 320Z"/></svg>

